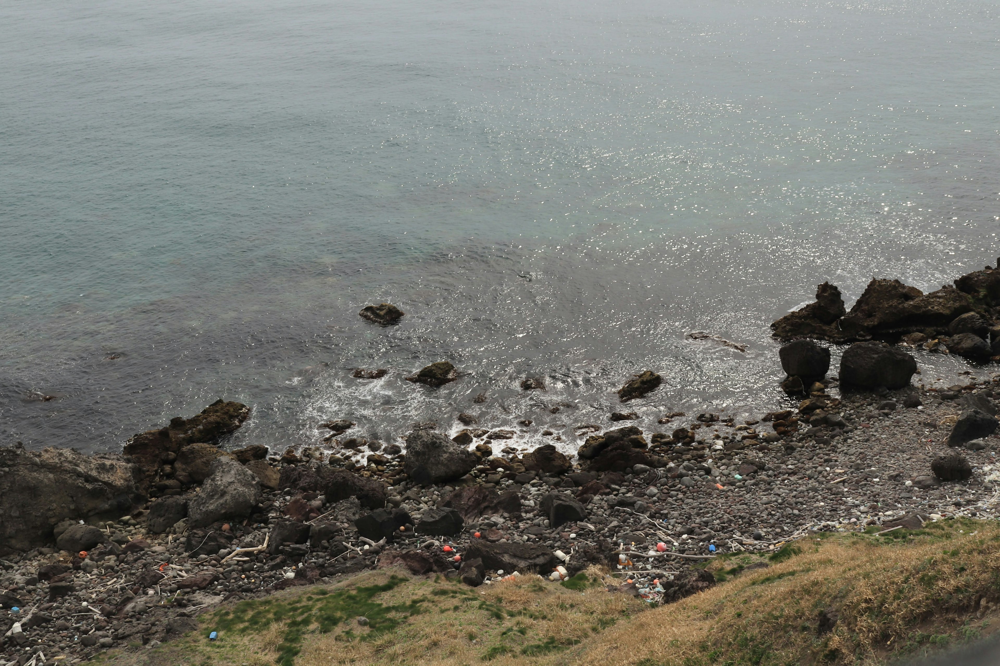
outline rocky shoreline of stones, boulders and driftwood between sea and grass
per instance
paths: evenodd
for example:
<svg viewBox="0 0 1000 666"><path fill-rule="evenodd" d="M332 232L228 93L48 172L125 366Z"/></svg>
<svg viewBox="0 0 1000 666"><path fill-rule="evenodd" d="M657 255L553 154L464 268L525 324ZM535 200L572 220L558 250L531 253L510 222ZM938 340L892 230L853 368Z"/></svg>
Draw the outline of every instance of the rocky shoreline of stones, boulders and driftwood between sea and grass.
<svg viewBox="0 0 1000 666"><path fill-rule="evenodd" d="M923 333L912 331L910 311L891 326L852 329L863 341L832 376L829 350L804 338L832 339L830 327L844 331L850 315L835 307L836 288L821 286L825 305L775 324L776 334L791 331L789 318L827 327L779 335L800 338L779 354L796 409L740 422L664 413L657 432L615 423L631 416L614 412L605 424L579 424L572 457L552 444L518 448L517 432L478 427L468 414L450 438L415 424L405 451L350 436L349 420L324 424L335 453L226 451L220 441L249 408L222 400L136 434L120 455L0 448L0 663L54 666L142 649L191 630L195 614L226 600L366 568L479 585L515 572L560 580L597 564L621 574L623 592L664 602L713 584L696 565L718 553L771 551L810 530L995 517L1000 373L970 366L960 385L915 387L919 369L906 351L960 348L951 340L967 332L940 332L969 314L996 339L988 304L1000 301L1000 287L991 291L1000 271L978 273L989 274L972 281L986 285L978 296L949 288L969 310L924 322ZM864 299L863 308L874 302ZM366 319L390 326L403 317L386 306ZM975 326L971 334L983 333ZM892 336L898 343L871 341ZM441 361L413 380L456 376ZM626 402L659 381L641 372L619 395ZM522 386L542 389L544 380Z"/></svg>

